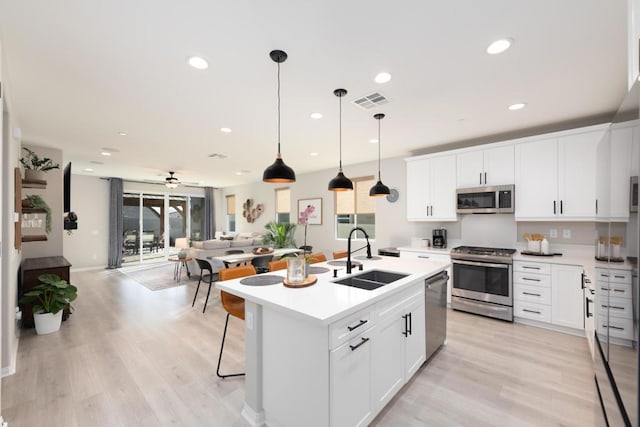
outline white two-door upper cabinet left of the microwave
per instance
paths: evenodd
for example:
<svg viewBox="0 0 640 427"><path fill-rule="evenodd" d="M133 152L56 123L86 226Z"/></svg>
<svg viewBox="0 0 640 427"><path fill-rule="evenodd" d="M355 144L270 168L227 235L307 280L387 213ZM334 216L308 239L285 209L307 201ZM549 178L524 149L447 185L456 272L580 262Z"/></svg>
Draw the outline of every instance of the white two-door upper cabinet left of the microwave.
<svg viewBox="0 0 640 427"><path fill-rule="evenodd" d="M456 221L456 156L407 160L407 219Z"/></svg>

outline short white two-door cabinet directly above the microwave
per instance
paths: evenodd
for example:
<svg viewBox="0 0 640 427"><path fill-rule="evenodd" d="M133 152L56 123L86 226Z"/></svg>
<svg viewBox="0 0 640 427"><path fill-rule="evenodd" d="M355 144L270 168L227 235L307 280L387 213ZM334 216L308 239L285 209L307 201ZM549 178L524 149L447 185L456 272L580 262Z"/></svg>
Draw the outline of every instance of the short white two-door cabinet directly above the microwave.
<svg viewBox="0 0 640 427"><path fill-rule="evenodd" d="M514 183L513 145L459 153L457 188Z"/></svg>

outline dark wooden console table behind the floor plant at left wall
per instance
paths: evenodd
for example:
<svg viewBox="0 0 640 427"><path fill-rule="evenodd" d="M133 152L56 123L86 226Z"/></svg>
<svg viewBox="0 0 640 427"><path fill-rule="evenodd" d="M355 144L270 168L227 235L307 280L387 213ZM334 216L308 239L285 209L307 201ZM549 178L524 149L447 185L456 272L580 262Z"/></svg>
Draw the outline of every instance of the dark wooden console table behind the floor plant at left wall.
<svg viewBox="0 0 640 427"><path fill-rule="evenodd" d="M61 279L69 282L69 267L71 263L62 256L25 258L22 260L22 294L29 292L40 283L38 277L41 274L57 274ZM31 304L21 304L20 307L22 308L22 326L32 328L34 323ZM70 314L71 312L66 308L62 313L62 320L66 320Z"/></svg>

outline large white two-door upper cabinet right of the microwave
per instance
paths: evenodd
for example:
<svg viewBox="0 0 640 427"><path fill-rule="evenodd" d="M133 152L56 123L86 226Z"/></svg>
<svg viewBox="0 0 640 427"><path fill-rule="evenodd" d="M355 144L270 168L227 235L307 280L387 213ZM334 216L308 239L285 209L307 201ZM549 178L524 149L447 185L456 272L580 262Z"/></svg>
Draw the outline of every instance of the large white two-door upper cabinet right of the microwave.
<svg viewBox="0 0 640 427"><path fill-rule="evenodd" d="M596 218L596 152L604 127L517 144L518 221Z"/></svg>

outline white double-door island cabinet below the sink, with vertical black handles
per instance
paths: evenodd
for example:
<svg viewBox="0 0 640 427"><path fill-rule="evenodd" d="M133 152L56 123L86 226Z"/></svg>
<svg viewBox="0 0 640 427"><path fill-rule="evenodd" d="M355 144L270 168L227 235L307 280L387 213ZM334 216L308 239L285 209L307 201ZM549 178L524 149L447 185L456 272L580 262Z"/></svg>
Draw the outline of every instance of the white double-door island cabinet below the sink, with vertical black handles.
<svg viewBox="0 0 640 427"><path fill-rule="evenodd" d="M426 360L424 283L377 304L372 335L374 410L386 405Z"/></svg>

